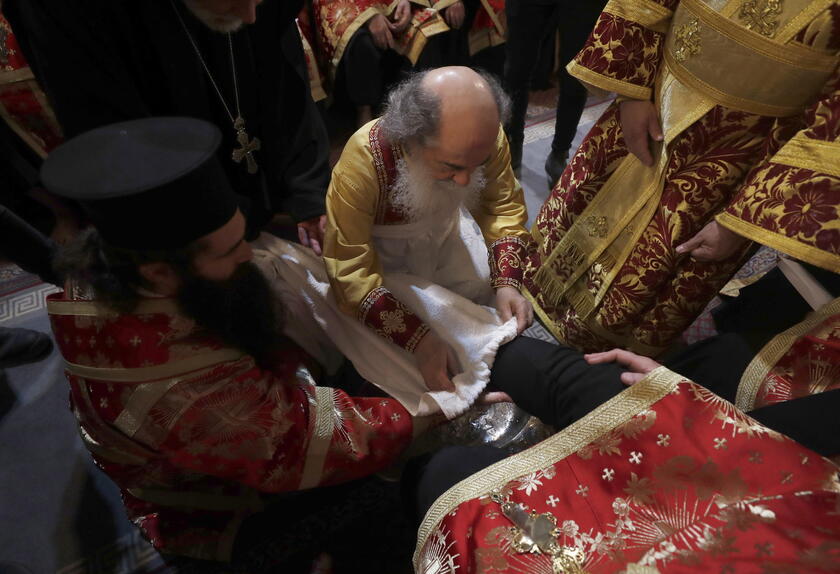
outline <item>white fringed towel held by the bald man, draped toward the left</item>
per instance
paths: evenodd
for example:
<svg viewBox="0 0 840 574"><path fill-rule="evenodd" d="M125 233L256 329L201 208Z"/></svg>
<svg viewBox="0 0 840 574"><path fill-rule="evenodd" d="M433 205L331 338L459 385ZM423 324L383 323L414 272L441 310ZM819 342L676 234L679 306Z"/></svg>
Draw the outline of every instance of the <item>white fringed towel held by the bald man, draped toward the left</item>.
<svg viewBox="0 0 840 574"><path fill-rule="evenodd" d="M428 392L414 355L338 308L323 261L310 249L267 234L254 247L255 263L286 303L288 336L328 370L337 368L343 354L412 415L463 413L487 385L499 346L516 337L515 318L502 323L495 309L445 287L408 273L386 273L385 287L451 345L460 362L454 392Z"/></svg>

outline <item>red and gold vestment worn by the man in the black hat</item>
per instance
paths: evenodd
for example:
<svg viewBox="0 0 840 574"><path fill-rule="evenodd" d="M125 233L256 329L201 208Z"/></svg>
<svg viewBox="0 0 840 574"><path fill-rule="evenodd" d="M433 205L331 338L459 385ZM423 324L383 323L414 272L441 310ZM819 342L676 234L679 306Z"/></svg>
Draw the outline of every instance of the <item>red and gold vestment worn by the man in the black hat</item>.
<svg viewBox="0 0 840 574"><path fill-rule="evenodd" d="M229 559L262 494L369 475L411 440L397 401L316 386L292 342L266 370L170 299L117 314L56 294L48 311L85 445L161 550Z"/></svg>

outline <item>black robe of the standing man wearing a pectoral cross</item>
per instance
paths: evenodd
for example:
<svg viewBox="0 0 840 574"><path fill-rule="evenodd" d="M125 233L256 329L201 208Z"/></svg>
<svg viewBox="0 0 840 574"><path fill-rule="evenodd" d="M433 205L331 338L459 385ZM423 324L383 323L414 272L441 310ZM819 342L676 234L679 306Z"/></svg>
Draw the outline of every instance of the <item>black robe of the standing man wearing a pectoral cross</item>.
<svg viewBox="0 0 840 574"><path fill-rule="evenodd" d="M256 23L231 35L242 116L262 143L256 175L231 159L236 132L174 10L235 116L228 37L201 24L181 0L174 7L170 0L6 0L3 13L67 137L147 116L219 126L219 159L244 198L253 235L275 212L295 221L325 213L329 143L295 25L301 6L266 0Z"/></svg>

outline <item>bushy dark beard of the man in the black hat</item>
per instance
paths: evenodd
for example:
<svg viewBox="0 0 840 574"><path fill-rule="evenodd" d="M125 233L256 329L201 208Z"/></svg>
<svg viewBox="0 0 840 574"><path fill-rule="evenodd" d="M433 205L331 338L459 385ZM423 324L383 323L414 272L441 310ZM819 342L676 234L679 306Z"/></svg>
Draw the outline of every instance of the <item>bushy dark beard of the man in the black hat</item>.
<svg viewBox="0 0 840 574"><path fill-rule="evenodd" d="M268 280L253 263L241 264L225 281L185 272L177 300L181 311L228 345L271 364L283 330L283 310Z"/></svg>

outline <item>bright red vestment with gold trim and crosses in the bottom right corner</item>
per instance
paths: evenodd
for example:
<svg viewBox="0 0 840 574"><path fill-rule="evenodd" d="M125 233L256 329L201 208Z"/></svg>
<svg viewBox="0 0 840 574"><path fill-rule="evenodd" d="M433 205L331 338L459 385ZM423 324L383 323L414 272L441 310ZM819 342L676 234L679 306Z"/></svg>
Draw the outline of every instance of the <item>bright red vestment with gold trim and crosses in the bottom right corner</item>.
<svg viewBox="0 0 840 574"><path fill-rule="evenodd" d="M660 367L444 493L420 527L415 571L836 572L837 472ZM499 498L548 515L560 558L517 551Z"/></svg>

